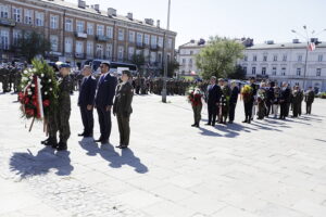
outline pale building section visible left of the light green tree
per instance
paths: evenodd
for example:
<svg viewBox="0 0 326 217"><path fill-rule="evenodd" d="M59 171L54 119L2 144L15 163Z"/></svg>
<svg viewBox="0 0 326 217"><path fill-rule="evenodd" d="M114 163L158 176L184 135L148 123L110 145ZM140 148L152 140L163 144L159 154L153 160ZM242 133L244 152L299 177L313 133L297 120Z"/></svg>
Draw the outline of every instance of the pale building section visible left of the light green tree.
<svg viewBox="0 0 326 217"><path fill-rule="evenodd" d="M205 41L190 40L179 47L177 54L177 62L180 67L178 69L178 75L199 75L200 71L196 64L196 55L205 47Z"/></svg>

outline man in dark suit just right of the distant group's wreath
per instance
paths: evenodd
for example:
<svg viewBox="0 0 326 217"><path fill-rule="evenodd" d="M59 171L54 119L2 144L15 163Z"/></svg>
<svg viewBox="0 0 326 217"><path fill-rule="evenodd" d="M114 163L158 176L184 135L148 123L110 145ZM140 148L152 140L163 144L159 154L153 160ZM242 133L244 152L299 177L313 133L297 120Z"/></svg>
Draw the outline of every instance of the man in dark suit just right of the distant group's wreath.
<svg viewBox="0 0 326 217"><path fill-rule="evenodd" d="M222 95L222 90L220 86L216 85L216 77L211 77L211 85L208 87L208 112L209 112L209 123L206 125L215 126L217 105Z"/></svg>

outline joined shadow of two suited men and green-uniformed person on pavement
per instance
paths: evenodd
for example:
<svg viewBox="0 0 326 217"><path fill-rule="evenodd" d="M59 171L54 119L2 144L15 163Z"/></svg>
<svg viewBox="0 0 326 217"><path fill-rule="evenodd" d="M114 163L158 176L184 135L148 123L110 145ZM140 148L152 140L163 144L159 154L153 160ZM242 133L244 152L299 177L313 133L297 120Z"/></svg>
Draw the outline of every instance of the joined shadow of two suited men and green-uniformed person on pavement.
<svg viewBox="0 0 326 217"><path fill-rule="evenodd" d="M92 142L92 140L85 138L79 141L79 144L87 151L87 155L96 156L99 154L103 159L110 163L109 166L112 168L120 168L123 165L128 165L138 174L148 173L148 167L140 162L139 157L135 156L130 149L122 150L122 154L120 155L111 144L102 144L99 146L97 143Z"/></svg>

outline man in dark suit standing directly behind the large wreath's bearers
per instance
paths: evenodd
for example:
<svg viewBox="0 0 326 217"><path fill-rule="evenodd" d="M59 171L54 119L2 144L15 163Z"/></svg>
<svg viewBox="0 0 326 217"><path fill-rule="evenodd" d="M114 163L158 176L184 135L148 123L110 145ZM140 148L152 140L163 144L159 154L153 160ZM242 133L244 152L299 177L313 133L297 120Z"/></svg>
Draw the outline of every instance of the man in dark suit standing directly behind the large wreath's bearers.
<svg viewBox="0 0 326 217"><path fill-rule="evenodd" d="M84 78L82 80L78 106L80 107L84 132L79 137L92 137L93 129L93 100L97 90L97 80L91 76L91 67L85 66L82 71Z"/></svg>

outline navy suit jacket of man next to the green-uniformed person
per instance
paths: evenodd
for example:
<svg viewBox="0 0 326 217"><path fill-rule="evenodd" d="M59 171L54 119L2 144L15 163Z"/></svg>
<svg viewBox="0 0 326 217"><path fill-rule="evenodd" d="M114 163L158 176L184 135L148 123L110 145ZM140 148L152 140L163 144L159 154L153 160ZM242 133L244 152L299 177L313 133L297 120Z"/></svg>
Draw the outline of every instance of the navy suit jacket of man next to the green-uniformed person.
<svg viewBox="0 0 326 217"><path fill-rule="evenodd" d="M113 105L113 98L115 94L115 88L117 85L117 79L114 76L108 74L104 80L101 81L101 77L98 82L98 91L96 95L96 105L98 107L105 107L108 105Z"/></svg>

